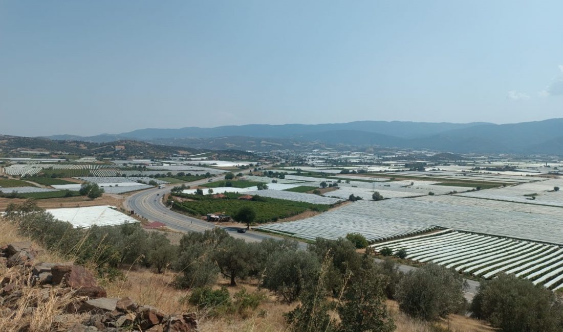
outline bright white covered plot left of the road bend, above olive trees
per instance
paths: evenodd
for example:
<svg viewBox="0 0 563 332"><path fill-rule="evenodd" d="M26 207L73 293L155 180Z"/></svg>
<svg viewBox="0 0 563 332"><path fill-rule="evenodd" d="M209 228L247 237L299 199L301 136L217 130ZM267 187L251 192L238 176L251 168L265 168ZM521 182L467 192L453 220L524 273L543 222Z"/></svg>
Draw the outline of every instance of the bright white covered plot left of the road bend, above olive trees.
<svg viewBox="0 0 563 332"><path fill-rule="evenodd" d="M93 225L121 225L126 222L138 222L135 218L115 210L109 205L77 208L55 208L47 210L55 219L70 222L75 228L88 228Z"/></svg>

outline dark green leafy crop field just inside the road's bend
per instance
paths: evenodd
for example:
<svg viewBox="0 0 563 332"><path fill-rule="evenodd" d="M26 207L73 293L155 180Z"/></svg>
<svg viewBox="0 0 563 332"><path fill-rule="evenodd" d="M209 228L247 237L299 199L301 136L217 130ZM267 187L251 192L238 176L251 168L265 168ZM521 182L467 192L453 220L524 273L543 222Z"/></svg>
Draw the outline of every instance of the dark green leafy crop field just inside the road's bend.
<svg viewBox="0 0 563 332"><path fill-rule="evenodd" d="M262 190L272 191L272 190ZM190 195L193 197L194 195ZM238 195L230 194L229 197ZM180 197L182 197L180 195ZM304 202L287 201L285 199L275 199L260 197L259 201L243 201L236 198L213 199L211 197L202 197L196 201L175 202L173 208L177 211L183 211L195 216L204 216L207 213L225 213L234 215L243 206L250 206L256 211L256 222L270 222L279 219L298 215L307 210L327 211L329 205L326 204L310 204Z"/></svg>

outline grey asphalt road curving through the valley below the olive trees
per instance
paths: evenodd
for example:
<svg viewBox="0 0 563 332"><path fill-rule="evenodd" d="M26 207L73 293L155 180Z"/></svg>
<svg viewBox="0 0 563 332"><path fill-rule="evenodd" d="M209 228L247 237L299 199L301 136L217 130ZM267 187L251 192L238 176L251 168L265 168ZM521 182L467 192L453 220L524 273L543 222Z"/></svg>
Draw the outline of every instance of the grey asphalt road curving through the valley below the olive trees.
<svg viewBox="0 0 563 332"><path fill-rule="evenodd" d="M213 178L214 181L223 180L225 177L223 175L216 176ZM190 183L186 183L186 185L190 185L194 187L195 185L207 183L208 179L193 181ZM129 196L125 201L125 206L127 210L133 210L137 215L143 216L152 221L160 221L166 224L166 226L170 229L181 231L181 232L190 232L190 231L198 231L203 232L205 230L213 229L215 227L221 227L227 231L233 238L244 239L250 242L257 242L262 241L264 239L273 238L279 239L274 235L261 233L258 231L247 231L246 233L237 233L236 230L239 228L233 226L216 226L211 222L203 221L200 219L196 219L193 217L189 217L186 215L182 215L181 213L175 212L164 206L162 203L162 195L167 194L170 192L170 189L173 185L168 185L167 188L162 189L149 189L149 190L142 190L136 194ZM241 226L240 228L244 228ZM298 242L300 248L306 249L307 244L305 242ZM381 262L378 258L374 258L377 262ZM399 265L399 270L402 272L409 272L412 270L416 270L417 267L409 266L409 265ZM479 287L478 281L473 281L466 279L469 285L469 289L464 293L465 298L468 301L472 301L473 297L477 292L477 288Z"/></svg>

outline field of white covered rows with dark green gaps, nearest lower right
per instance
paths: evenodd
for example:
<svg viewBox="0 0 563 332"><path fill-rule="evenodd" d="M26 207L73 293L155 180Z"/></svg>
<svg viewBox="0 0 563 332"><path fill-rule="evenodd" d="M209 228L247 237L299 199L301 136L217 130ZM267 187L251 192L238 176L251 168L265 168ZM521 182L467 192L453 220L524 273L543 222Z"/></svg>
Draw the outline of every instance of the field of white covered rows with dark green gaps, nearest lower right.
<svg viewBox="0 0 563 332"><path fill-rule="evenodd" d="M563 247L488 235L441 231L372 245L406 251L406 258L432 262L485 279L504 272L549 289L563 288Z"/></svg>

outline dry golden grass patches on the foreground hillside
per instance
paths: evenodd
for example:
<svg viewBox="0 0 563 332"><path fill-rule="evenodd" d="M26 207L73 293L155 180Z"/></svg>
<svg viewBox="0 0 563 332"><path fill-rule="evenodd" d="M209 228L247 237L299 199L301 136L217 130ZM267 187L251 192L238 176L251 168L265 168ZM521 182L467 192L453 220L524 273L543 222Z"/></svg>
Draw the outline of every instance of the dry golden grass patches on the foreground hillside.
<svg viewBox="0 0 563 332"><path fill-rule="evenodd" d="M0 218L0 245L11 242L29 241L29 238L22 237L17 233L16 225L10 221ZM33 242L32 242L33 243ZM44 262L62 262L64 257L44 251L40 245L33 243L37 249L36 260ZM16 275L15 269L8 269L0 265L0 278L3 276ZM172 282L176 273L166 271L163 274L155 274L148 269L138 267L124 270L126 278L122 280L108 281L99 280L100 284L106 288L108 297L131 297L138 304L148 304L166 313L191 312L197 308L191 307L182 298L189 295L186 290L176 289ZM18 285L23 285L30 276L20 276L14 279ZM220 279L214 288L228 286L229 280ZM231 295L240 289L246 288L248 292L257 289L256 281L240 281L237 286L228 286ZM28 287L22 290L22 296L17 301L17 310L11 311L6 315L6 307L0 305L0 330L1 331L65 331L70 326L75 325L87 318L87 314L66 314L66 305L77 298L72 293L61 294L60 288L42 289L39 287ZM395 319L397 331L400 332L491 332L489 328L479 321L459 316L450 315L448 319L439 322L423 322L415 320L398 310L394 301L387 301L392 315ZM34 310L27 309L35 307ZM218 331L260 331L274 332L287 330L283 314L293 310L297 303L285 304L269 293L266 301L248 317L243 319L238 315L226 315L222 317L209 317L204 311L198 312L199 328L202 332Z"/></svg>

